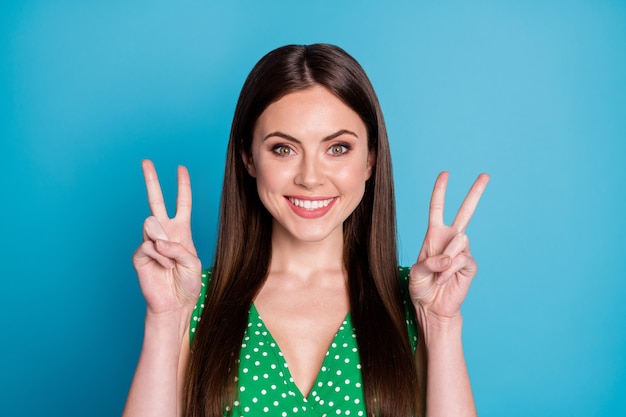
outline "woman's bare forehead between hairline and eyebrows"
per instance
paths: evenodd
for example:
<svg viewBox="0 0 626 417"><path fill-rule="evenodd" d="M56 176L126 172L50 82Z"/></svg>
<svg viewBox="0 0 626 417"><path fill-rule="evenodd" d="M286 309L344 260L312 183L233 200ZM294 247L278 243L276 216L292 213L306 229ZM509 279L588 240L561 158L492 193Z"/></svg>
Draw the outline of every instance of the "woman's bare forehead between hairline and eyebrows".
<svg viewBox="0 0 626 417"><path fill-rule="evenodd" d="M276 130L306 135L340 129L366 136L365 124L352 108L328 89L314 86L286 94L270 104L257 119L254 135Z"/></svg>

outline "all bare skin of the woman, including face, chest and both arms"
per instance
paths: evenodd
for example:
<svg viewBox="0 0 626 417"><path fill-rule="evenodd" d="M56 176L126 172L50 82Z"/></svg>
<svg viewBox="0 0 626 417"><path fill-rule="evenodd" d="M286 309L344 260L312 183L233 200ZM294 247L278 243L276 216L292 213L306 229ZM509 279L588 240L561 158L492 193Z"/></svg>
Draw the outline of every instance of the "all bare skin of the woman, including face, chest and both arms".
<svg viewBox="0 0 626 417"><path fill-rule="evenodd" d="M343 221L362 198L375 155L367 149L358 116L324 88L314 87L270 105L255 126L251 155L242 158L274 221L274 255L254 303L306 394L348 312ZM186 332L200 291L201 263L190 228L191 185L187 170L179 167L177 211L169 218L153 164L144 161L142 167L152 216L144 223L144 242L133 264L146 299L146 325L124 415L175 416L180 415L189 355ZM409 290L424 342L416 366L428 416L476 415L460 307L476 274L465 230L488 180L486 174L478 177L447 226L448 173L439 175L426 237L411 268ZM332 204L323 215L311 217L294 208L289 197L332 199Z"/></svg>

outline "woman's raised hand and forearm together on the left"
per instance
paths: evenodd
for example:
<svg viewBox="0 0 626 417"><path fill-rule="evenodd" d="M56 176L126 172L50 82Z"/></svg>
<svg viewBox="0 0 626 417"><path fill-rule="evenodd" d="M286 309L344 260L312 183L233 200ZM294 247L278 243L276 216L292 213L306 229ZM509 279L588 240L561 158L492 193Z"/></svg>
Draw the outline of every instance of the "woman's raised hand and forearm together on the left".
<svg viewBox="0 0 626 417"><path fill-rule="evenodd" d="M179 167L176 215L169 218L154 165L143 161L142 168L152 216L144 222L133 265L146 300L145 333L123 415L179 416L189 320L202 272L191 237L191 183L187 169Z"/></svg>

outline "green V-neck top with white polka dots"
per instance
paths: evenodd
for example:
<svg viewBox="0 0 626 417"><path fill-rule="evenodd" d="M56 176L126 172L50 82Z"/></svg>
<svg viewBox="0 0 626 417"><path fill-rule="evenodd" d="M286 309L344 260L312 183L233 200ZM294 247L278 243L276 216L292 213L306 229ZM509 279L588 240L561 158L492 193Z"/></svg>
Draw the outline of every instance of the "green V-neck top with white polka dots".
<svg viewBox="0 0 626 417"><path fill-rule="evenodd" d="M202 291L194 309L190 342L204 308L211 271L202 273ZM415 352L417 328L413 307L408 301L408 268L400 268L409 340ZM254 304L248 313L248 326L241 343L239 372L235 379L238 395L232 410L224 414L245 416L365 416L361 364L350 313L331 342L317 379L304 396L291 377L280 348L265 327Z"/></svg>

